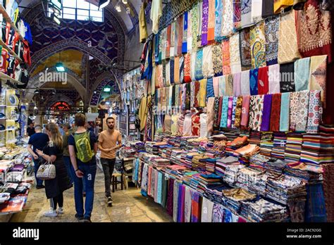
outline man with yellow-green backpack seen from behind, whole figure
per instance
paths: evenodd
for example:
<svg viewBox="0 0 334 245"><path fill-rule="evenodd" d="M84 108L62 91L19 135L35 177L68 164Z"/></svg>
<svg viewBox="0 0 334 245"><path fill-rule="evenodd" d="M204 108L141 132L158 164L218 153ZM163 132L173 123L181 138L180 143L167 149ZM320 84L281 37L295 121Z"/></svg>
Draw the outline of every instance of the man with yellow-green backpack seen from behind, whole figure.
<svg viewBox="0 0 334 245"><path fill-rule="evenodd" d="M97 173L97 139L85 128L86 116L75 115L75 126L78 129L68 137L68 150L72 162L74 178L75 218L84 222L91 222L94 203L94 181ZM83 179L83 180L82 180ZM86 200L85 210L82 196L82 182L85 182Z"/></svg>

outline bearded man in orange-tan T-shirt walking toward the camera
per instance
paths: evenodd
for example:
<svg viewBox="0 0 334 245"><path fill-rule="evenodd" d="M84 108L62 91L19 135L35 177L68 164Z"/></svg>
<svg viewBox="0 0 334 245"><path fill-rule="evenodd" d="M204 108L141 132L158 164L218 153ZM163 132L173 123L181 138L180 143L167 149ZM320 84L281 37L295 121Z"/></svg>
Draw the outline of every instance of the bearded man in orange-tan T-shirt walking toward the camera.
<svg viewBox="0 0 334 245"><path fill-rule="evenodd" d="M118 130L115 130L115 119L113 117L106 118L108 129L99 134L99 150L101 151L101 165L104 172L104 187L106 199L109 206L112 205L111 199L111 177L116 161L116 150L122 147L122 136ZM118 144L117 144L118 143Z"/></svg>

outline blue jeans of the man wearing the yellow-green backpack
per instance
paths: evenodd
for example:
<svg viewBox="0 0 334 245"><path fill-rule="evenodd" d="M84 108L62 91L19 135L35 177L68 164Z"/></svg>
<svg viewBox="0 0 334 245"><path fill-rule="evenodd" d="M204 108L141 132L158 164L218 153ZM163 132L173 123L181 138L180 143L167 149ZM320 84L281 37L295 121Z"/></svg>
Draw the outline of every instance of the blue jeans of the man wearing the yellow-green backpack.
<svg viewBox="0 0 334 245"><path fill-rule="evenodd" d="M82 178L75 175L74 168L71 168L72 175L74 177L74 200L75 200L75 211L77 214L84 218L90 218L93 211L93 203L94 203L94 182L95 175L97 173L97 165L78 165L78 169L80 169L84 176ZM86 187L86 200L85 200L85 211L83 206L83 196L82 196L82 188L85 183ZM85 212L85 213L84 213Z"/></svg>

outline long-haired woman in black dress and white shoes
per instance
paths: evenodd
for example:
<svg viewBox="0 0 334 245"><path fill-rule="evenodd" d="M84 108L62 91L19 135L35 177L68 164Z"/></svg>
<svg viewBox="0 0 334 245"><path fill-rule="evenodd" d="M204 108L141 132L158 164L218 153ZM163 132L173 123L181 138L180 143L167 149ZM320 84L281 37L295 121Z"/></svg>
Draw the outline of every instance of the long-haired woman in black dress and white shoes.
<svg viewBox="0 0 334 245"><path fill-rule="evenodd" d="M56 167L56 177L44 181L45 194L51 204L50 211L44 213L44 216L56 217L58 214L63 214L63 191L70 189L73 184L70 183L66 166L63 163L63 140L57 125L49 123L45 129L49 135L49 144L44 147L43 151L37 149L36 152L45 161L51 162Z"/></svg>

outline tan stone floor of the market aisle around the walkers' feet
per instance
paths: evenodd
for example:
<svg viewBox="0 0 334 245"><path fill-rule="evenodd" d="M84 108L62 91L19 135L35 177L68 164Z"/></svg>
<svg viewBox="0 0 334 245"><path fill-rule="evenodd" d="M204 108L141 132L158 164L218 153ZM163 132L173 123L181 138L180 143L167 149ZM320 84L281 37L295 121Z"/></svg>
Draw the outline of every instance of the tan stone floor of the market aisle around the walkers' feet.
<svg viewBox="0 0 334 245"><path fill-rule="evenodd" d="M78 222L74 218L74 207L72 188L64 192L65 213L56 218L44 217L43 213L49 210L49 201L44 189L34 187L28 196L25 208L21 213L14 214L11 222ZM113 193L113 207L106 206L104 175L98 169L92 222L173 222L173 218L152 199L142 196L140 189L135 187L123 191L116 190Z"/></svg>

